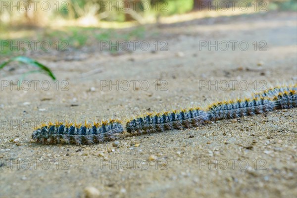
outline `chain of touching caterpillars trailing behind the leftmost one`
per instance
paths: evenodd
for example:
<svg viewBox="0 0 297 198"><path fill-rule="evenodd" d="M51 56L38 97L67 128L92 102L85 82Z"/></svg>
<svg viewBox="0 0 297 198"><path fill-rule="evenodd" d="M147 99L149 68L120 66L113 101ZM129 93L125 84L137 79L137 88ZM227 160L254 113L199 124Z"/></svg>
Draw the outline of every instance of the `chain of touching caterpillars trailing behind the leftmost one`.
<svg viewBox="0 0 297 198"><path fill-rule="evenodd" d="M249 99L237 99L222 101L210 104L206 110L200 111L200 116L193 118L191 116L181 116L180 114L191 115L192 109L164 112L163 114L154 114L141 116L136 119L128 120L126 130L129 133L143 131L165 131L171 129L184 129L197 127L207 121L217 121L223 119L233 119L248 115L262 114L276 109L286 109L297 107L297 84L289 87L277 87L253 95ZM174 123L170 120L171 115L175 116ZM177 116L178 115L178 116ZM190 124L191 123L191 124Z"/></svg>

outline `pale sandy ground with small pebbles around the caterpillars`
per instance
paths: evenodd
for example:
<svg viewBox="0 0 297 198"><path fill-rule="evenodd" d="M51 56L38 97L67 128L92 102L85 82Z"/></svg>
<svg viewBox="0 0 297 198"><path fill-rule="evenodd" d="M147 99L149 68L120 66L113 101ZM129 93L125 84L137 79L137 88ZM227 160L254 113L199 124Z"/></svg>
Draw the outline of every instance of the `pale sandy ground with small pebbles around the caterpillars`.
<svg viewBox="0 0 297 198"><path fill-rule="evenodd" d="M140 110L205 106L264 84L296 82L296 21L296 13L207 18L148 27L158 36L148 40L147 51L78 51L72 60L62 52L33 55L59 80L30 75L36 90L33 82L27 91L25 84L19 91L3 87L19 75L2 71L0 196L84 197L86 187L95 187L100 197L296 197L297 109L183 131L125 132L118 147L31 140L32 127L43 120L125 119ZM156 40L167 42L168 50L154 51ZM201 41L245 41L248 48L237 43L234 50L199 50ZM266 51L259 50L261 41ZM102 86L106 82L119 85Z"/></svg>

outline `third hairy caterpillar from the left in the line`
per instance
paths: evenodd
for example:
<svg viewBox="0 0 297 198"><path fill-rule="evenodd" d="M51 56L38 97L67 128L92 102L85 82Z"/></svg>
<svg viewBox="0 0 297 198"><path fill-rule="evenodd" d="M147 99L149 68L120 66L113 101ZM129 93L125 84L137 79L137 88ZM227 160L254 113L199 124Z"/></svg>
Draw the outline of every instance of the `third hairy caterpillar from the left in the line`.
<svg viewBox="0 0 297 198"><path fill-rule="evenodd" d="M273 111L275 101L268 98L238 99L212 104L208 108L210 120L233 119Z"/></svg>

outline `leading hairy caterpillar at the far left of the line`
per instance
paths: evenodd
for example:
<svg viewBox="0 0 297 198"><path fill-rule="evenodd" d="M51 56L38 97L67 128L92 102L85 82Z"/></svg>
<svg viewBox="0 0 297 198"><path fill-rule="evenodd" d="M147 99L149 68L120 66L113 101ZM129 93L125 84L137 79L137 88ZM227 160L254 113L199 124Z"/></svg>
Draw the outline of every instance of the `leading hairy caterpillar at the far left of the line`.
<svg viewBox="0 0 297 198"><path fill-rule="evenodd" d="M119 120L104 121L102 123L90 124L85 122L83 126L68 122L49 122L32 133L32 139L37 143L56 144L63 140L66 143L95 144L114 140L116 133L123 133L124 129Z"/></svg>

